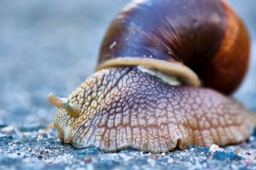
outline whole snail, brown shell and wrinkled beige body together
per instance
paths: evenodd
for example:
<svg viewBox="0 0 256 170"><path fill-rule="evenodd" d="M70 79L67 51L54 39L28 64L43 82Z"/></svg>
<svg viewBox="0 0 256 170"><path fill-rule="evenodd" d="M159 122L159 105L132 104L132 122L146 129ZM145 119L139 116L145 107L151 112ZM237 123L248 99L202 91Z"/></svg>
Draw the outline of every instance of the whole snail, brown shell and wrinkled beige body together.
<svg viewBox="0 0 256 170"><path fill-rule="evenodd" d="M49 127L75 148L165 153L189 144L236 144L250 111L228 97L246 74L250 38L224 0L136 0L111 23L96 73ZM202 87L204 86L204 87Z"/></svg>

